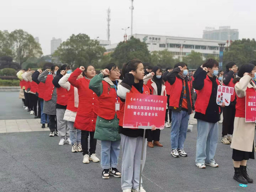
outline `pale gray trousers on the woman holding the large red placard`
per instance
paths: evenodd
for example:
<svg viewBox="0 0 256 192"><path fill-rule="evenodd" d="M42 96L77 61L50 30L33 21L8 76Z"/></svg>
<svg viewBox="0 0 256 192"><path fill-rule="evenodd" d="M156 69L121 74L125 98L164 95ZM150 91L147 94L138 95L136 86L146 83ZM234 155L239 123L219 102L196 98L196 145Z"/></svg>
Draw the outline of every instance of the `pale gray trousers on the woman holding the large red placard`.
<svg viewBox="0 0 256 192"><path fill-rule="evenodd" d="M137 189L140 182L140 158L142 150L142 137L128 137L121 134L122 143L122 190ZM144 142L142 170L146 160L147 139ZM141 179L142 183L142 179Z"/></svg>

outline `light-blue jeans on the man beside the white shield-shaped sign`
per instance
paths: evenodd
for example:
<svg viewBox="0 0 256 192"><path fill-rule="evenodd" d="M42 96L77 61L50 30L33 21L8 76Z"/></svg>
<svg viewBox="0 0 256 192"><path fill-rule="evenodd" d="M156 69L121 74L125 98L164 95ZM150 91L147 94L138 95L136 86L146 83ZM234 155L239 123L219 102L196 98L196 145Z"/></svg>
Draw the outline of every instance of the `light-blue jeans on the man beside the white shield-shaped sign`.
<svg viewBox="0 0 256 192"><path fill-rule="evenodd" d="M196 163L215 163L218 136L218 122L197 119Z"/></svg>

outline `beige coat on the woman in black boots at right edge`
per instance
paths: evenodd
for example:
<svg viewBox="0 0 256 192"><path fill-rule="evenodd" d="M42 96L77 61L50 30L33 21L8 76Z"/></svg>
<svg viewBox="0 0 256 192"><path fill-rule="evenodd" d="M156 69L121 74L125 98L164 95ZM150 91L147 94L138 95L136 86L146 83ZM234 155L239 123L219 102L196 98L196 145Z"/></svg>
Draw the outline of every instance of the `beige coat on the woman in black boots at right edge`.
<svg viewBox="0 0 256 192"><path fill-rule="evenodd" d="M235 85L235 92L238 97L245 97L246 89L255 87L255 84L251 81L252 77L246 75L240 79ZM244 103L245 105L245 103ZM252 152L253 148L255 149L254 143L254 134L255 134L255 123L245 123L245 118L235 117L234 121L234 132L231 143L231 148Z"/></svg>

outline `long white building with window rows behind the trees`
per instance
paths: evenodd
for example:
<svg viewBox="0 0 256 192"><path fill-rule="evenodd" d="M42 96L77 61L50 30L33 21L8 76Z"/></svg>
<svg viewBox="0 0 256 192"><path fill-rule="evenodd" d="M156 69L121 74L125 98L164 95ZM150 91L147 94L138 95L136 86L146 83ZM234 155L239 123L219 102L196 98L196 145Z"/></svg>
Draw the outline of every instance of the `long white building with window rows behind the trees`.
<svg viewBox="0 0 256 192"><path fill-rule="evenodd" d="M191 51L202 53L203 57L208 54L219 56L219 43L226 43L225 41L206 40L200 38L190 37L174 37L174 36L159 36L159 35L146 35L134 34L135 38L145 42L148 45L149 52L163 51L167 49L172 52L174 58L181 55L186 56ZM129 36L130 38L131 36ZM113 52L118 43L105 46L107 52Z"/></svg>

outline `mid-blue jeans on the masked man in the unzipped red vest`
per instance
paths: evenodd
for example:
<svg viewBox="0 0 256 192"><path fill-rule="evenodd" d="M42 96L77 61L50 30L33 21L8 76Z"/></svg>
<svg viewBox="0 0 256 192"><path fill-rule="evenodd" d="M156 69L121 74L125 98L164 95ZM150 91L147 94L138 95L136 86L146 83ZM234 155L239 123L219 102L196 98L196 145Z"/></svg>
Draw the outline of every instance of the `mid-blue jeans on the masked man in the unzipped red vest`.
<svg viewBox="0 0 256 192"><path fill-rule="evenodd" d="M172 149L183 149L188 131L189 115L187 111L180 112L172 110L172 130L171 145Z"/></svg>

